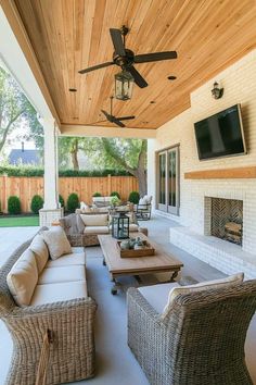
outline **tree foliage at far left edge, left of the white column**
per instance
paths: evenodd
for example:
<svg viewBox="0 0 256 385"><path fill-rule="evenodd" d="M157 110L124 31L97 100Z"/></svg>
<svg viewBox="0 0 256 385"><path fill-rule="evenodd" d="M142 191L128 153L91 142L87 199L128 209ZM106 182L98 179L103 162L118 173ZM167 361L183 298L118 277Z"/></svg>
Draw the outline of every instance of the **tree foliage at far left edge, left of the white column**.
<svg viewBox="0 0 256 385"><path fill-rule="evenodd" d="M36 110L15 79L0 67L0 152L10 134L21 125L27 125L37 133L42 132Z"/></svg>

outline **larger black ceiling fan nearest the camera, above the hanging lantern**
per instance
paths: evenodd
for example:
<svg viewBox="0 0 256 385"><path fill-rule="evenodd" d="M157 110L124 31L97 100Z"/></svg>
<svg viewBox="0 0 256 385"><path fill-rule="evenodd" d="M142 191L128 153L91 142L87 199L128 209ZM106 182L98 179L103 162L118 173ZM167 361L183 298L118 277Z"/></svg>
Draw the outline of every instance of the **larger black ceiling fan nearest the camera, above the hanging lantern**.
<svg viewBox="0 0 256 385"><path fill-rule="evenodd" d="M133 64L137 63L149 63L156 62L162 60L177 59L176 51L165 51L165 52L152 52L152 53L142 53L135 54L131 50L125 47L125 37L128 34L128 28L123 25L120 29L111 28L111 38L114 46L113 61L106 62L98 65L90 66L85 70L78 71L80 74L86 74L88 72L103 69L110 65L118 65L121 70L129 72L135 78L135 83L140 87L144 88L148 86L145 79L141 76L141 74L136 70ZM123 39L124 37L124 39Z"/></svg>

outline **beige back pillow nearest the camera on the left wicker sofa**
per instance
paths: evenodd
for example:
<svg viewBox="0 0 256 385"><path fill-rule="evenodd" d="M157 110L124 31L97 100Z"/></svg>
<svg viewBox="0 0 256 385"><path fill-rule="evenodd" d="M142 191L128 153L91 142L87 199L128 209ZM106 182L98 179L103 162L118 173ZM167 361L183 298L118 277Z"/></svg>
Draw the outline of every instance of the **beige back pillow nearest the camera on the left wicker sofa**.
<svg viewBox="0 0 256 385"><path fill-rule="evenodd" d="M9 290L18 306L29 305L37 280L36 258L34 252L27 249L18 258L7 276Z"/></svg>

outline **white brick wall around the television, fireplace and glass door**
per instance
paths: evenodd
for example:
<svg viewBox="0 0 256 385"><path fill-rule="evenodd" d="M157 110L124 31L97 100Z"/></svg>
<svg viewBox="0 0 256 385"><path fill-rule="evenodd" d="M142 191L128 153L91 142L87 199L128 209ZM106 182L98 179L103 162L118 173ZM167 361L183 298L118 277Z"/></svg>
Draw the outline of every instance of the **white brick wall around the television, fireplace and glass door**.
<svg viewBox="0 0 256 385"><path fill-rule="evenodd" d="M256 181L184 179L184 173L199 170L256 165L256 50L231 65L191 94L191 108L157 129L149 140L149 194L155 196L155 151L180 144L180 216L171 219L204 235L205 197L243 200L243 251L254 254L256 264ZM225 88L221 99L214 99L215 80ZM199 161L194 123L233 104L241 103L247 154ZM171 108L171 107L170 107ZM241 258L243 256L241 254Z"/></svg>

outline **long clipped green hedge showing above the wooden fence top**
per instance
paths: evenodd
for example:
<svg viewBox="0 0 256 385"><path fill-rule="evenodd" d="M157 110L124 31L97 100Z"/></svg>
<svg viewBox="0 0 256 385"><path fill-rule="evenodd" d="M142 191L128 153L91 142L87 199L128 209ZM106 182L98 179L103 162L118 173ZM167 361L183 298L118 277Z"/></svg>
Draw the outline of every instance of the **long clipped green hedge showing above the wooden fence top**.
<svg viewBox="0 0 256 385"><path fill-rule="evenodd" d="M0 166L0 175L8 176L43 176L43 169L40 167L17 167L17 166ZM131 175L125 170L93 170L93 171L85 171L85 170L60 170L59 176L129 176Z"/></svg>

